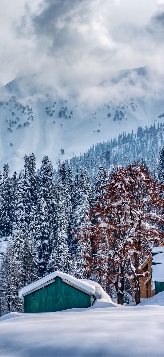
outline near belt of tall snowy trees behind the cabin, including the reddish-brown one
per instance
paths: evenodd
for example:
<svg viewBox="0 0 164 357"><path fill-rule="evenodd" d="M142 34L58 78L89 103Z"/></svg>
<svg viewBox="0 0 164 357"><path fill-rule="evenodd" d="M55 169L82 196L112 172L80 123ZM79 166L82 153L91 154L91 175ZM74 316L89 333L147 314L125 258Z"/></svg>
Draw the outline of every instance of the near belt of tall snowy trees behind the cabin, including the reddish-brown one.
<svg viewBox="0 0 164 357"><path fill-rule="evenodd" d="M119 303L133 276L139 303L139 266L163 241L164 147L158 178L143 159L109 176L100 165L94 185L85 167L73 180L61 160L55 176L47 156L37 172L33 153L24 160L18 177L8 164L0 175L2 309L22 311L21 287L56 270L99 282Z"/></svg>

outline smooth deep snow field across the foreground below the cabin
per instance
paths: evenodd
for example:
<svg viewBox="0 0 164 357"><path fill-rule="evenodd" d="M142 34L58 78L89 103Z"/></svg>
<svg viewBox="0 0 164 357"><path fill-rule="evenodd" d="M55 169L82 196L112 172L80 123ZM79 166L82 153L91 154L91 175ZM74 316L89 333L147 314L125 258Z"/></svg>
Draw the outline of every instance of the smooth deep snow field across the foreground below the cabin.
<svg viewBox="0 0 164 357"><path fill-rule="evenodd" d="M10 313L0 319L0 356L164 356L164 292L139 306Z"/></svg>

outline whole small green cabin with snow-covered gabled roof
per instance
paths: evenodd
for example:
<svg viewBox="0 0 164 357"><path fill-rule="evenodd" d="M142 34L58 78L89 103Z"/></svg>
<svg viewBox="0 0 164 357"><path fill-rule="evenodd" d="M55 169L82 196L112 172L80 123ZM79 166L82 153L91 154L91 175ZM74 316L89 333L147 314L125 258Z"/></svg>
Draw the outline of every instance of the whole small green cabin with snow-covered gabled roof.
<svg viewBox="0 0 164 357"><path fill-rule="evenodd" d="M89 280L55 271L22 288L19 296L24 298L24 312L54 312L89 307L96 300L94 292Z"/></svg>

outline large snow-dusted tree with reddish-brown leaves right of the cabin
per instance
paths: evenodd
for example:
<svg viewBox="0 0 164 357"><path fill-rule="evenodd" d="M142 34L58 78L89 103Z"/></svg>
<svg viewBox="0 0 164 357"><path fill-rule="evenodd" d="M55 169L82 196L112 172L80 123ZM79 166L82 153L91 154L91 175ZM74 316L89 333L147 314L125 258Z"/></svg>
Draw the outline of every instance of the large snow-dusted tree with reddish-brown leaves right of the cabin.
<svg viewBox="0 0 164 357"><path fill-rule="evenodd" d="M131 275L136 287L136 304L140 302L139 266L152 247L163 240L162 191L163 186L150 176L144 165L120 167L112 173L105 185L105 195L91 212L95 222L88 234L92 234L95 275L102 285L109 276L118 303L123 304L125 276Z"/></svg>

